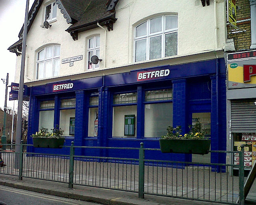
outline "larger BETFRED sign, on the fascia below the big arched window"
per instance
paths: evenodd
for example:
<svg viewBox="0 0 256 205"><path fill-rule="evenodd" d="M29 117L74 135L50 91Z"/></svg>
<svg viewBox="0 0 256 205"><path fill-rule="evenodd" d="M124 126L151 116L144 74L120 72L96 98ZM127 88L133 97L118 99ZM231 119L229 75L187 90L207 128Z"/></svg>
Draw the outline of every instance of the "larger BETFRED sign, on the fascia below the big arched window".
<svg viewBox="0 0 256 205"><path fill-rule="evenodd" d="M137 72L137 81L161 78L161 77L169 76L169 74L170 74L169 69Z"/></svg>

